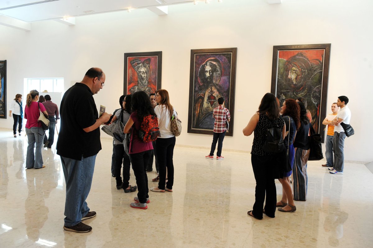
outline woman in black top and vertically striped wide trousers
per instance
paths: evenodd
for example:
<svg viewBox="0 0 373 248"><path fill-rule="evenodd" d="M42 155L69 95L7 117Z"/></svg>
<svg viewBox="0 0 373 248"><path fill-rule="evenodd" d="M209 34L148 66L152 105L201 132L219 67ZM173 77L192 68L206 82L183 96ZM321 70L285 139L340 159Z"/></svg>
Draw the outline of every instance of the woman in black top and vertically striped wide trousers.
<svg viewBox="0 0 373 248"><path fill-rule="evenodd" d="M300 107L301 126L295 136L294 149L295 158L293 166L293 191L294 200L305 201L307 197L307 161L310 157L310 144L308 132L310 131L310 120L307 117L307 109L304 104L298 102Z"/></svg>

